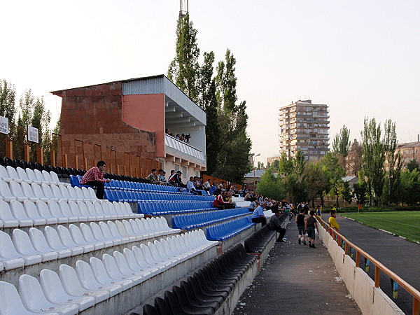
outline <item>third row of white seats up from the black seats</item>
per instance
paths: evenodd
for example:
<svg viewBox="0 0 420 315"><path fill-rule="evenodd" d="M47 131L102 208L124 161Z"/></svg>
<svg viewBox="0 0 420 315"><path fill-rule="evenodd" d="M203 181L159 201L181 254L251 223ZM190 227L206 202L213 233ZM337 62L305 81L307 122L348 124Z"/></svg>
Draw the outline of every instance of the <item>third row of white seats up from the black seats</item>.
<svg viewBox="0 0 420 315"><path fill-rule="evenodd" d="M11 200L10 204L0 200L0 228L18 228L38 225L74 222L142 218L143 214L133 214L130 205L120 202L83 202L70 200L38 200L23 203Z"/></svg>

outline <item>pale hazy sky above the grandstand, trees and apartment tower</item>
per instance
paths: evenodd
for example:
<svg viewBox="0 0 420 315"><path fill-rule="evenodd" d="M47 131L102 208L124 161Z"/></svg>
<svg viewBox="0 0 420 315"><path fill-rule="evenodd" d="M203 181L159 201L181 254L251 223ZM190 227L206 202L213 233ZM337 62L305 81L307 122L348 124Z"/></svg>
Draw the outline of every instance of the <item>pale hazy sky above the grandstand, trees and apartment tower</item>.
<svg viewBox="0 0 420 315"><path fill-rule="evenodd" d="M328 104L330 138L342 125L360 139L363 118L420 134L420 1L190 0L201 54L237 59L252 152L277 155L278 113L299 99ZM3 1L0 78L18 97L166 74L174 58L178 0ZM331 142L331 141L330 141Z"/></svg>

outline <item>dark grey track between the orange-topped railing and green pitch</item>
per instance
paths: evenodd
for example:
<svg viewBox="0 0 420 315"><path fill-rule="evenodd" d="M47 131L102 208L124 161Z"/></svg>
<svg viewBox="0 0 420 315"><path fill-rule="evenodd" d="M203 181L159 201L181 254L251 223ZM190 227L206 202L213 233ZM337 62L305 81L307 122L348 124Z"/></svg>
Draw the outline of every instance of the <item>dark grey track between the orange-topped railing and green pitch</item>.
<svg viewBox="0 0 420 315"><path fill-rule="evenodd" d="M328 214L325 214L324 221L328 220L328 217ZM398 274L414 288L420 290L419 244L369 228L342 216L337 216L337 222L339 223L340 233L344 237L372 255L373 258L379 260L379 262L391 269L395 274ZM363 266L360 265L360 267ZM373 265L370 267L369 275L374 279ZM388 276L381 274L380 286L389 297L392 297L391 282ZM402 288L398 290L398 298L393 301L405 314L412 313L412 297Z"/></svg>

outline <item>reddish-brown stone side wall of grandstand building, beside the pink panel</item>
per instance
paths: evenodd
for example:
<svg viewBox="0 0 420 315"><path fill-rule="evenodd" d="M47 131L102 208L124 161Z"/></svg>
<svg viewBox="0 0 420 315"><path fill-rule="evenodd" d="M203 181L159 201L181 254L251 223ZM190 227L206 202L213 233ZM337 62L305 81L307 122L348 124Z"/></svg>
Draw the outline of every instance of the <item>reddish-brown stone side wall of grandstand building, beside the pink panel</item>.
<svg viewBox="0 0 420 315"><path fill-rule="evenodd" d="M75 144L75 139L83 141L88 160L98 160L99 148L94 156L93 144L102 146L105 161L109 160L111 149L144 159L155 158L155 133L136 129L122 120L121 83L78 87L56 94L62 97L59 134L63 153L69 155L69 166L73 164L75 151L81 160L82 144L78 141ZM61 158L57 160L62 163ZM117 155L117 164L124 164L123 154Z"/></svg>

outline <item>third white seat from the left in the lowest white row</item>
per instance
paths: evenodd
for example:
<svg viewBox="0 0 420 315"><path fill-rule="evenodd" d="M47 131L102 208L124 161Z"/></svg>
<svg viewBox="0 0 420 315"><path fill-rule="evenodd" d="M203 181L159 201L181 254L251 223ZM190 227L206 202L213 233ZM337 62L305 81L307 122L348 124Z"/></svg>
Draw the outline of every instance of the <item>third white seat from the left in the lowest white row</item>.
<svg viewBox="0 0 420 315"><path fill-rule="evenodd" d="M69 295L63 288L57 273L43 269L39 274L39 283L47 300L57 304L76 304L79 311L83 311L95 304L94 297L83 295Z"/></svg>

